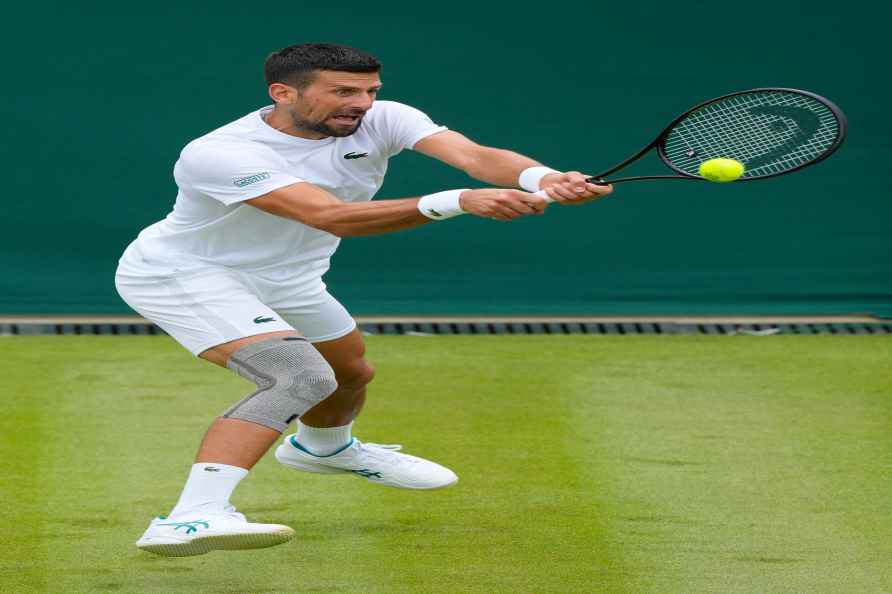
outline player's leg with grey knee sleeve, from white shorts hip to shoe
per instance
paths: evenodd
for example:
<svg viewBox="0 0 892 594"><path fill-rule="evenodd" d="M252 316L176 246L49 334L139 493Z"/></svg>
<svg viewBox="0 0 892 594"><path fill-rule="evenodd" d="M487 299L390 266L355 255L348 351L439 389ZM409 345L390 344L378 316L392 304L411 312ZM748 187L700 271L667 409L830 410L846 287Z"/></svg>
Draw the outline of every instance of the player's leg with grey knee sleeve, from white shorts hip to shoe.
<svg viewBox="0 0 892 594"><path fill-rule="evenodd" d="M291 528L248 522L229 499L290 421L335 391L331 366L231 270L207 266L171 278L166 271L122 267L115 284L133 309L191 353L257 385L212 424L177 505L169 517L149 523L137 546L187 556L289 540ZM255 334L257 324L267 332Z"/></svg>

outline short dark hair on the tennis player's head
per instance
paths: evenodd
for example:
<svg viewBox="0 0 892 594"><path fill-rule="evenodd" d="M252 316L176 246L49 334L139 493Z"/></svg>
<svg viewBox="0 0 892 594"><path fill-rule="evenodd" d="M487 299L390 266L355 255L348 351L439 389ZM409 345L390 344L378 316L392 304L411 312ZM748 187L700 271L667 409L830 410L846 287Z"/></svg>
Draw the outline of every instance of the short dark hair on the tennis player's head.
<svg viewBox="0 0 892 594"><path fill-rule="evenodd" d="M380 72L381 63L364 51L334 43L301 43L271 53L263 65L266 84L306 88L317 70Z"/></svg>

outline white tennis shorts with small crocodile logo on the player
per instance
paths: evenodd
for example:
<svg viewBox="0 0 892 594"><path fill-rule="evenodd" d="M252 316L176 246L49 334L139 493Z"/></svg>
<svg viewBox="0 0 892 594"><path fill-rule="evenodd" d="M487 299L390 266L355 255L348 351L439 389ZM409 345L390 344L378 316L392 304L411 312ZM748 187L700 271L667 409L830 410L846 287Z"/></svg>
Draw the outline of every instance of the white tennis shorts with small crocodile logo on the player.
<svg viewBox="0 0 892 594"><path fill-rule="evenodd" d="M224 267L178 274L146 274L122 265L115 275L121 298L193 355L265 332L296 330L310 342L341 338L356 322L320 281L287 282Z"/></svg>

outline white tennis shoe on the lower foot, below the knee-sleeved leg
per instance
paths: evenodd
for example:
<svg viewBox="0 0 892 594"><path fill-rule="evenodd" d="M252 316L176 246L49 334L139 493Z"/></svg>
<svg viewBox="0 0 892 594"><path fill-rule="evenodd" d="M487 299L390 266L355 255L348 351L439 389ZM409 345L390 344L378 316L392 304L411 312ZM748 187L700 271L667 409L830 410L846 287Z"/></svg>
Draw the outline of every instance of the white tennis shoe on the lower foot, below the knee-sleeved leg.
<svg viewBox="0 0 892 594"><path fill-rule="evenodd" d="M204 555L214 550L262 549L288 542L294 530L281 524L254 524L230 506L211 514L158 516L136 546L165 557Z"/></svg>

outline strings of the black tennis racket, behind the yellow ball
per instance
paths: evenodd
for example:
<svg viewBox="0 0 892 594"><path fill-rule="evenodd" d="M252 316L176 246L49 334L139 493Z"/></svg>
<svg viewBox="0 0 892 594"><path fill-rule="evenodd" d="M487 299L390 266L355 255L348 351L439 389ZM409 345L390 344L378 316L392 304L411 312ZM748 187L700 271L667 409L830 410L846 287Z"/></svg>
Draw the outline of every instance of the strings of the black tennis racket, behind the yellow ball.
<svg viewBox="0 0 892 594"><path fill-rule="evenodd" d="M692 175L703 161L724 157L744 163L744 177L760 177L817 159L839 131L833 111L816 99L756 92L692 112L672 129L663 150L674 166Z"/></svg>

